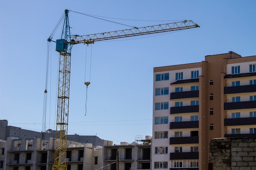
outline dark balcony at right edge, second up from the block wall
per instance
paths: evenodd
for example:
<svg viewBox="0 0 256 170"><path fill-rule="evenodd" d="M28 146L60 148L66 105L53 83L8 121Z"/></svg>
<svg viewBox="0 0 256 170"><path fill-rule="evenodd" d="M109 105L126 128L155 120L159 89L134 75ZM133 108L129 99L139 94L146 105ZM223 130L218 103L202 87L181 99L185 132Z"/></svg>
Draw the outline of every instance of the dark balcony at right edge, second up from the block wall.
<svg viewBox="0 0 256 170"><path fill-rule="evenodd" d="M256 124L256 117L224 119L224 126L254 125L254 124Z"/></svg>

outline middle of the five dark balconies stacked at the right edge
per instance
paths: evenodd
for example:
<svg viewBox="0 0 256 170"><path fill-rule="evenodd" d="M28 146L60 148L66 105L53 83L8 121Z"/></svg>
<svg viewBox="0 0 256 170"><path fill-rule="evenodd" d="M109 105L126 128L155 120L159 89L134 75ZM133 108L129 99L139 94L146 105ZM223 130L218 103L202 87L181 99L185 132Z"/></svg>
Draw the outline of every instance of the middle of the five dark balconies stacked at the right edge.
<svg viewBox="0 0 256 170"><path fill-rule="evenodd" d="M256 101L224 103L224 110L256 108Z"/></svg>

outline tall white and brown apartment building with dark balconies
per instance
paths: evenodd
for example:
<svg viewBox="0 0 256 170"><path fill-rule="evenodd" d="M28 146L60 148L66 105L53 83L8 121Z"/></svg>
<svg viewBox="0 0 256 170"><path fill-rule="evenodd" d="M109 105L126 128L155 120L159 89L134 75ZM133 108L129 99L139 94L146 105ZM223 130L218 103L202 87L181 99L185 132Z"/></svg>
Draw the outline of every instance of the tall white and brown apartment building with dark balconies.
<svg viewBox="0 0 256 170"><path fill-rule="evenodd" d="M256 137L256 56L154 68L152 170L207 170L209 140Z"/></svg>

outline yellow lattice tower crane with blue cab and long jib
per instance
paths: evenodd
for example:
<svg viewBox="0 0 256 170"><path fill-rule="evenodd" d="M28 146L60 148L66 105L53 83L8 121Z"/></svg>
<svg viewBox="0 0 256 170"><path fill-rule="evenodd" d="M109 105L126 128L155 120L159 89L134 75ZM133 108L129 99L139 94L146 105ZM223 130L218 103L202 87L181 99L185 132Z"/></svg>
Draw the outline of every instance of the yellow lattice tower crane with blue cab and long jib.
<svg viewBox="0 0 256 170"><path fill-rule="evenodd" d="M56 139L53 170L67 170L66 150L67 150L67 125L69 116L69 94L70 94L70 59L71 49L74 44L94 44L97 41L126 38L137 35L148 35L153 33L163 33L168 31L178 31L200 27L192 20L173 22L169 24L159 24L146 27L134 27L132 29L97 33L91 35L70 35L68 20L69 10L65 10L64 24L61 39L56 40L56 51L60 53L59 75L58 75L58 103L56 118ZM47 40L52 41L50 36Z"/></svg>

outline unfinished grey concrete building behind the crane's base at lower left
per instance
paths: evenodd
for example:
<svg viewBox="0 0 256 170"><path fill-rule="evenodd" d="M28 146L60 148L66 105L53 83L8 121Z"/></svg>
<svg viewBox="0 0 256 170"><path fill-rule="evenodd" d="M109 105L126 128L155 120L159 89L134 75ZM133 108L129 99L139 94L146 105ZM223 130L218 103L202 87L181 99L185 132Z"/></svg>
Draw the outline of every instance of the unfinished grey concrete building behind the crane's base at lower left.
<svg viewBox="0 0 256 170"><path fill-rule="evenodd" d="M54 138L0 140L0 170L52 170ZM92 170L102 166L103 147L67 142L67 170Z"/></svg>

